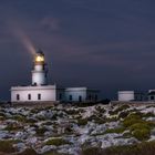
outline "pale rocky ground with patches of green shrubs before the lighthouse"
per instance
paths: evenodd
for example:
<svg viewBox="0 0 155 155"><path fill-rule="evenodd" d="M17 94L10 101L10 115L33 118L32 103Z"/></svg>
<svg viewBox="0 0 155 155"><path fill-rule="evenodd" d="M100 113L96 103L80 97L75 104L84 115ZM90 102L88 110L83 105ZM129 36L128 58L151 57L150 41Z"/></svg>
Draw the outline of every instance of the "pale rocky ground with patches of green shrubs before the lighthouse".
<svg viewBox="0 0 155 155"><path fill-rule="evenodd" d="M155 105L0 107L0 154L80 155L154 140Z"/></svg>

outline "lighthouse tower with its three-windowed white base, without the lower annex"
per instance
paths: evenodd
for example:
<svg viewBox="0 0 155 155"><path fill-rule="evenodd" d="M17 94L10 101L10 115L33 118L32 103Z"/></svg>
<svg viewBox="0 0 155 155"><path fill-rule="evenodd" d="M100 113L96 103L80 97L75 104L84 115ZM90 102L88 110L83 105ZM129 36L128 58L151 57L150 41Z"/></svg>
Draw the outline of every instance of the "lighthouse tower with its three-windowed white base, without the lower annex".
<svg viewBox="0 0 155 155"><path fill-rule="evenodd" d="M64 100L64 89L48 85L48 68L42 51L33 60L32 83L29 86L12 86L11 102L56 102Z"/></svg>

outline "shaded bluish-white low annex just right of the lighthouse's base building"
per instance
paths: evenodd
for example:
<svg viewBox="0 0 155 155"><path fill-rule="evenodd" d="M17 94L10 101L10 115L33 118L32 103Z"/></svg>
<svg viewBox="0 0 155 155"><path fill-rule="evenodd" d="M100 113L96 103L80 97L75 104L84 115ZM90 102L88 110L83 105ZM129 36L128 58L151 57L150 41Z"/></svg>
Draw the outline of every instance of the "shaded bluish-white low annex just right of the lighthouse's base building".
<svg viewBox="0 0 155 155"><path fill-rule="evenodd" d="M87 87L68 87L65 89L66 102L96 102L99 100L99 91Z"/></svg>

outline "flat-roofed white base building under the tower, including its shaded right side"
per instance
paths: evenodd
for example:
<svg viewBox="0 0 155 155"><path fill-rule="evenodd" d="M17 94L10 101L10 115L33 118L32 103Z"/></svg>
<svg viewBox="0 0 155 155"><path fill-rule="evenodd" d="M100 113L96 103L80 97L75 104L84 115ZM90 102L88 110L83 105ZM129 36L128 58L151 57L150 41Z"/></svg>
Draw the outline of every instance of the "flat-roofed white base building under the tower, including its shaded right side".
<svg viewBox="0 0 155 155"><path fill-rule="evenodd" d="M13 86L11 87L12 102L55 102L64 101L64 89L56 85Z"/></svg>

